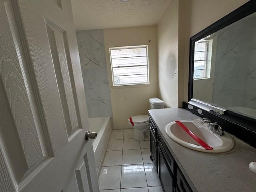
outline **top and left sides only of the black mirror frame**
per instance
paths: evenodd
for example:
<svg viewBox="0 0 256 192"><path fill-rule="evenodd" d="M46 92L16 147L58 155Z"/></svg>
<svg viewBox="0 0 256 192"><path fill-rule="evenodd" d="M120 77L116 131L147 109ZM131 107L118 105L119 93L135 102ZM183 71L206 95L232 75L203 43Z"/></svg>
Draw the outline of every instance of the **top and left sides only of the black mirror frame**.
<svg viewBox="0 0 256 192"><path fill-rule="evenodd" d="M193 98L193 76L194 76L194 48L195 42L217 32L218 30L256 12L256 0L250 0L230 14L211 24L189 40L189 77L188 77L188 102Z"/></svg>

